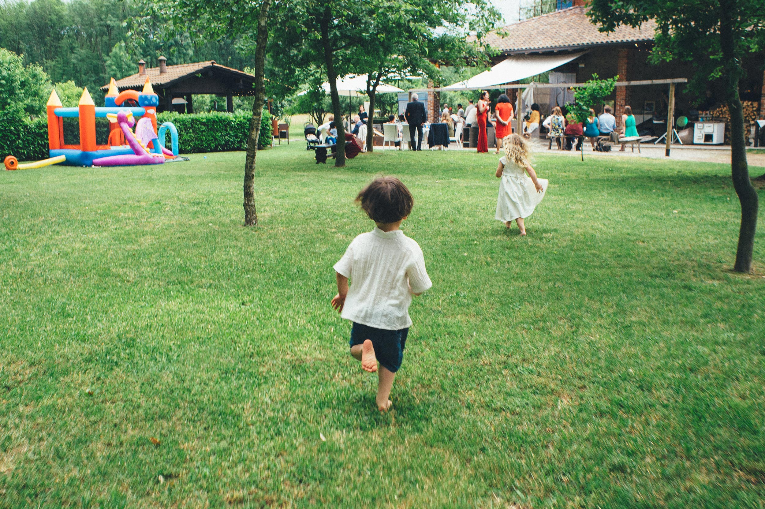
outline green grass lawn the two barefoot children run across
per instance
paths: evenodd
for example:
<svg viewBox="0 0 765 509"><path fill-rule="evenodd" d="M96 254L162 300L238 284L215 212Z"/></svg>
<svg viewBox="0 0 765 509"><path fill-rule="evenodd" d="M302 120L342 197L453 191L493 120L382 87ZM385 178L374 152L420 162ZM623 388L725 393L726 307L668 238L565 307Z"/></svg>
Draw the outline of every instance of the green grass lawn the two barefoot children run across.
<svg viewBox="0 0 765 509"><path fill-rule="evenodd" d="M521 238L493 155L311 155L259 153L257 228L243 153L0 172L0 507L763 507L729 168L540 155ZM386 415L330 308L379 173L434 283Z"/></svg>

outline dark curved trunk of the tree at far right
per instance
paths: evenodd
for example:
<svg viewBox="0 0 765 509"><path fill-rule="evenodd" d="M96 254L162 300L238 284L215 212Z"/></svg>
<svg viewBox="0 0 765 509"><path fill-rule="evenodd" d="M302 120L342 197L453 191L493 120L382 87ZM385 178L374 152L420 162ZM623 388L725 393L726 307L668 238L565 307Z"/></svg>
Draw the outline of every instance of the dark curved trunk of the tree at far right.
<svg viewBox="0 0 765 509"><path fill-rule="evenodd" d="M747 148L744 141L744 108L738 95L738 80L743 71L734 49L734 33L729 15L734 9L728 8L728 2L721 2L720 47L725 62L728 86L725 98L731 113L731 176L733 188L741 202L741 228L738 231L736 250L736 272L751 272L752 253L754 252L754 233L757 230L757 191L749 180L747 166Z"/></svg>

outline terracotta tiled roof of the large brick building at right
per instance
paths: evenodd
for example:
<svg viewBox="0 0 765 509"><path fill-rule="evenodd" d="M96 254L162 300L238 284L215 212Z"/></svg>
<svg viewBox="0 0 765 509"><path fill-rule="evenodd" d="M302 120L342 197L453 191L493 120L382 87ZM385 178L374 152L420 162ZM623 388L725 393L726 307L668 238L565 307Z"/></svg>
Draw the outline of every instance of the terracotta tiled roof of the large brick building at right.
<svg viewBox="0 0 765 509"><path fill-rule="evenodd" d="M653 41L655 27L653 21L647 21L640 28L620 26L604 34L588 18L586 7L571 7L509 24L502 28L505 37L492 31L486 41L503 53L577 50L598 44Z"/></svg>

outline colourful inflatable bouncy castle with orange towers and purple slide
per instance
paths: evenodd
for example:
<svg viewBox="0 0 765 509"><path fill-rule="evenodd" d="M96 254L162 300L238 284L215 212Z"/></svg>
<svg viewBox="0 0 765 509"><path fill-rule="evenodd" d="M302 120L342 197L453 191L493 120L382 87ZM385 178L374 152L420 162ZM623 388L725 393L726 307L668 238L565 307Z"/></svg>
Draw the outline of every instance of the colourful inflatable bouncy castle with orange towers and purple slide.
<svg viewBox="0 0 765 509"><path fill-rule="evenodd" d="M157 127L159 96L146 78L142 92L117 92L112 78L104 97L104 107L97 107L87 89L83 90L77 108L64 108L53 90L47 102L47 127L50 158L19 165L12 155L5 158L8 170L40 168L63 164L73 166L161 165L178 157L178 132L172 122ZM132 106L128 106L132 103ZM63 139L63 119L78 119L80 143L67 145ZM109 139L96 144L96 118L109 119ZM135 126L135 132L133 131ZM165 135L170 132L171 148L165 148Z"/></svg>

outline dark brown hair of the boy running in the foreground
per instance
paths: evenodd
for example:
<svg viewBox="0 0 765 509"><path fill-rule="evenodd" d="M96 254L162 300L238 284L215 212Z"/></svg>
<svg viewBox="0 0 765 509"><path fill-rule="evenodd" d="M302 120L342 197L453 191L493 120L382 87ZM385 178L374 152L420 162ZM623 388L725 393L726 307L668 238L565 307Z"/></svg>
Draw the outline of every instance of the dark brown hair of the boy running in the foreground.
<svg viewBox="0 0 765 509"><path fill-rule="evenodd" d="M356 201L361 210L375 223L396 223L412 212L415 199L412 193L395 177L380 177L363 188Z"/></svg>

